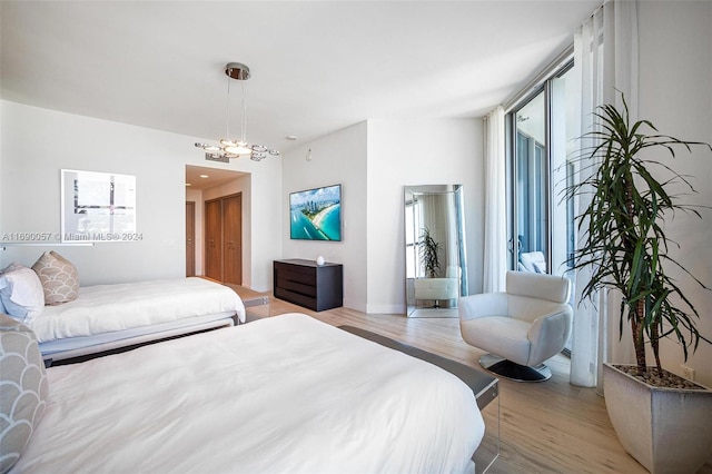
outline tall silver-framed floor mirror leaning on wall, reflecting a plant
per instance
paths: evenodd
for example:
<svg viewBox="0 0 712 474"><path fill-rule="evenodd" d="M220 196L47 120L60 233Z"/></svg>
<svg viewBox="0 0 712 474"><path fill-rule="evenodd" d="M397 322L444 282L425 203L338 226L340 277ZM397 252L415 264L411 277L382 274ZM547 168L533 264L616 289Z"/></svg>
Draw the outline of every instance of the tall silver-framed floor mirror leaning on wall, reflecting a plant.
<svg viewBox="0 0 712 474"><path fill-rule="evenodd" d="M457 317L467 295L462 185L405 187L408 317Z"/></svg>

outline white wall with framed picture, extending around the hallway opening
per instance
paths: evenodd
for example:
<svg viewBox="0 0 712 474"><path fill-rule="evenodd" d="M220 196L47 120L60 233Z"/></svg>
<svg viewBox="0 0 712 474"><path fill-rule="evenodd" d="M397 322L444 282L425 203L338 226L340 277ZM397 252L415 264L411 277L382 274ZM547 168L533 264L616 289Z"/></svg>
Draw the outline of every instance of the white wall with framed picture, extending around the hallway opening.
<svg viewBox="0 0 712 474"><path fill-rule="evenodd" d="M60 231L60 169L136 176L137 225L144 240L93 247L8 247L0 265L32 265L43 250L72 260L82 285L181 277L185 275L185 166L199 165L251 174L248 282L271 286L267 261L281 255L279 219L281 159L204 159L196 140L141 127L0 102L0 235Z"/></svg>

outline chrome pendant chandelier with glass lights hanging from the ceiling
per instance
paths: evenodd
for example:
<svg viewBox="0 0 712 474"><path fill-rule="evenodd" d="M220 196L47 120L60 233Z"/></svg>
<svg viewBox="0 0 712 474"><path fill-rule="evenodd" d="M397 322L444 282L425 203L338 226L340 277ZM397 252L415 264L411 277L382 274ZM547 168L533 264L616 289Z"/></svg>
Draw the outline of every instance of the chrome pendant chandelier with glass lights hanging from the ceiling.
<svg viewBox="0 0 712 474"><path fill-rule="evenodd" d="M249 156L255 161L261 161L270 156L279 156L279 151L265 147L264 145L247 144L247 105L245 101L245 81L249 79L249 68L240 62L228 62L225 66L227 80L227 129L226 138L220 140L220 145L196 144L196 147L205 150L205 158L211 161L229 162L230 158ZM230 82L239 80L243 92L243 117L240 127L240 138L230 138Z"/></svg>

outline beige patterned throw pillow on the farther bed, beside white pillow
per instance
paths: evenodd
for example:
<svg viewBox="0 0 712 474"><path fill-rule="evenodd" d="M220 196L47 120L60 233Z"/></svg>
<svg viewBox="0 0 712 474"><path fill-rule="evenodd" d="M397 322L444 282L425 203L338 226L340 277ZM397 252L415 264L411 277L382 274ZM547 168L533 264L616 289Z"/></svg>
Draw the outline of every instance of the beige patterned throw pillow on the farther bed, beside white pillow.
<svg viewBox="0 0 712 474"><path fill-rule="evenodd" d="M56 253L46 251L32 265L44 290L46 305L61 305L77 299L79 273L71 261Z"/></svg>

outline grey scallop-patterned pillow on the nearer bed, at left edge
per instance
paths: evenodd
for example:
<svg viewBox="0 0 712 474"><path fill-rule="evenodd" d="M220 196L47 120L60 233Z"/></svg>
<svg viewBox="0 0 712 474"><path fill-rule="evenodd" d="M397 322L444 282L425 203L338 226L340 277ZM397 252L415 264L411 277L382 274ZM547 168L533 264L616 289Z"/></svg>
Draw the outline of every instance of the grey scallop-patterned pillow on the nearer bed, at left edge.
<svg viewBox="0 0 712 474"><path fill-rule="evenodd" d="M0 314L0 472L20 458L40 422L49 385L34 333Z"/></svg>

